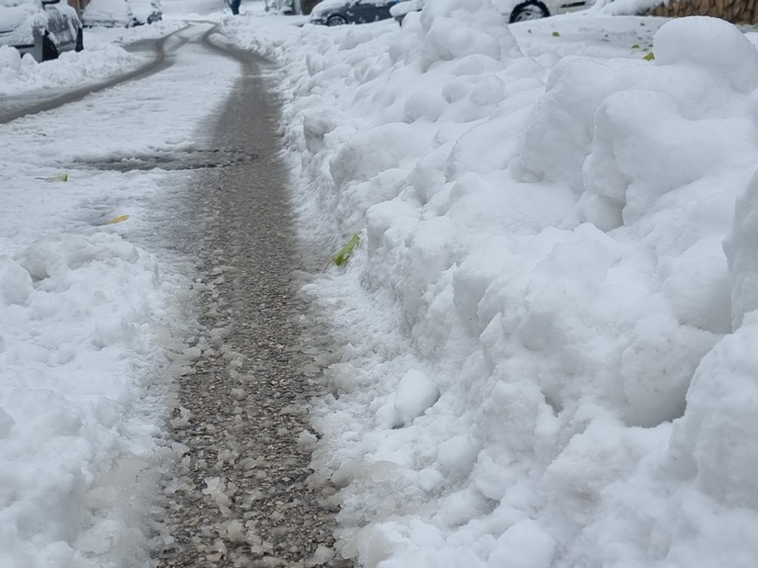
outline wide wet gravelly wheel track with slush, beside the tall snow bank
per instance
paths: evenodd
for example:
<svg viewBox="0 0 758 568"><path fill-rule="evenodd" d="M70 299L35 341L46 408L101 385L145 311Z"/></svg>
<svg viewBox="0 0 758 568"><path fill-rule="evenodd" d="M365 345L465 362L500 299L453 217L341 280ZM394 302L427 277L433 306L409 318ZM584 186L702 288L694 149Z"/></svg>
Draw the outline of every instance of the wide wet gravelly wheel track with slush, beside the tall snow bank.
<svg viewBox="0 0 758 568"><path fill-rule="evenodd" d="M248 158L198 170L177 212L202 332L178 378L182 455L164 484L153 565L352 566L332 548L335 490L309 469L309 400L337 356L297 290L323 262L299 252L277 108L246 57L211 148Z"/></svg>

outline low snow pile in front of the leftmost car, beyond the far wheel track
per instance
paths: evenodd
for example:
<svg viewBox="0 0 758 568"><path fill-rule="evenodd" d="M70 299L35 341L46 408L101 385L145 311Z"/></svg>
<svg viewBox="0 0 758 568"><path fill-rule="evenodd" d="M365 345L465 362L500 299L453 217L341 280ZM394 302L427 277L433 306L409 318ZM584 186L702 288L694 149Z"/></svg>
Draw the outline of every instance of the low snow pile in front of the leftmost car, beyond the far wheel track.
<svg viewBox="0 0 758 568"><path fill-rule="evenodd" d="M79 87L82 83L130 71L143 61L121 47L108 45L79 53L64 52L54 61L37 63L31 55L22 58L16 49L0 46L0 96Z"/></svg>

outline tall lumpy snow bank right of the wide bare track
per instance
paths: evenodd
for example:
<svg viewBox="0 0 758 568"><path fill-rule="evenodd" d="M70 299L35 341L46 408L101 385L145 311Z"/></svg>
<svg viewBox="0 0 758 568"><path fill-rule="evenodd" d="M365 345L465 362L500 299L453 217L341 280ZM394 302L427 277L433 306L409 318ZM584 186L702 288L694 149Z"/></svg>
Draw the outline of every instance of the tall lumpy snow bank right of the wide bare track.
<svg viewBox="0 0 758 568"><path fill-rule="evenodd" d="M554 64L478 0L251 22L226 31L280 64L304 234L365 237L313 288L349 342L315 458L344 554L754 566L750 42L688 18L653 62Z"/></svg>

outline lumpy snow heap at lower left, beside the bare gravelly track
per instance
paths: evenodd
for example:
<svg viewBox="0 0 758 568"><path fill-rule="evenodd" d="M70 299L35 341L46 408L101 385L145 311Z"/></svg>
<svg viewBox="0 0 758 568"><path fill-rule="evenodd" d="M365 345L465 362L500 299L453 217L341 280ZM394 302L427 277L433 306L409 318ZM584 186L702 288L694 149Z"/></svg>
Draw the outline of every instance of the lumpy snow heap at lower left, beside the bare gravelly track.
<svg viewBox="0 0 758 568"><path fill-rule="evenodd" d="M44 233L0 240L0 565L101 566L143 538L128 523L161 406L130 413L174 286L111 231Z"/></svg>

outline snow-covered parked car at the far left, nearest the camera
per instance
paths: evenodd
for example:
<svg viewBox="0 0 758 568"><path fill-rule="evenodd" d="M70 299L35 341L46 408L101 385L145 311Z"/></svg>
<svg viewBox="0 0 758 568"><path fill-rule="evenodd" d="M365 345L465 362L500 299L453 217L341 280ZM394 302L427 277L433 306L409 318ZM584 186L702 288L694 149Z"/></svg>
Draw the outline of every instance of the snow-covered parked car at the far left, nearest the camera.
<svg viewBox="0 0 758 568"><path fill-rule="evenodd" d="M49 61L83 49L82 24L77 11L60 0L0 0L0 46Z"/></svg>

